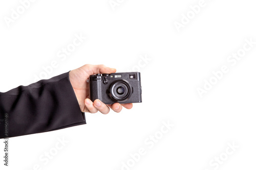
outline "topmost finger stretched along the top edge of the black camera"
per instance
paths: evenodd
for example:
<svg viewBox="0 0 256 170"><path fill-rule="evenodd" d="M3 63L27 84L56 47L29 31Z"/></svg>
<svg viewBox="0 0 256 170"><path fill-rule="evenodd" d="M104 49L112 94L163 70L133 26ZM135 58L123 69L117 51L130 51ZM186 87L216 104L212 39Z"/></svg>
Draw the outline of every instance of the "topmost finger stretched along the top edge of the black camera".
<svg viewBox="0 0 256 170"><path fill-rule="evenodd" d="M103 64L100 64L100 65L86 64L86 65L84 65L84 67L86 67L86 70L87 70L87 72L89 72L89 75L98 74L98 73L111 74L113 72L116 72L115 68L110 68Z"/></svg>

